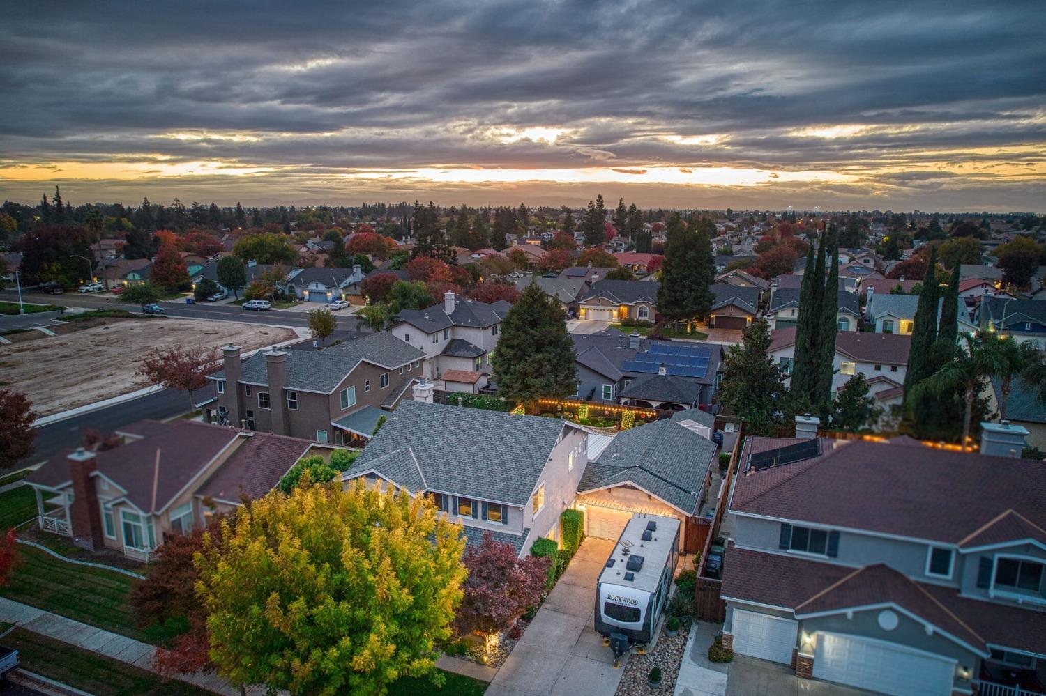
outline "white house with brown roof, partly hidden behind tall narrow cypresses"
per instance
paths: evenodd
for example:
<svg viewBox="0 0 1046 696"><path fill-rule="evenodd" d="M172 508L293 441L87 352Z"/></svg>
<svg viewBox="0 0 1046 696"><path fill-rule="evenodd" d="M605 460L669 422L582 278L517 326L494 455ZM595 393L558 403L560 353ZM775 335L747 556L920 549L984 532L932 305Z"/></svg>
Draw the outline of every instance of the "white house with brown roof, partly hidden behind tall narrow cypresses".
<svg viewBox="0 0 1046 696"><path fill-rule="evenodd" d="M910 335L900 333L840 331L836 335L836 354L832 359L833 390L838 392L851 376L864 374L871 385L872 396L887 405L900 403L911 343ZM767 354L780 365L788 384L795 357L795 327L772 331Z"/></svg>

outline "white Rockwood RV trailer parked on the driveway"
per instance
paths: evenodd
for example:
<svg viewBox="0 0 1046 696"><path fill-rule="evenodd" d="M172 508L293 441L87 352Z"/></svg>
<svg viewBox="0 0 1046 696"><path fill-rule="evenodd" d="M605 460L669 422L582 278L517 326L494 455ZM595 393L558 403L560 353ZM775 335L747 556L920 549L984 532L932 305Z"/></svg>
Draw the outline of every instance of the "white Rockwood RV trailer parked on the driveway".
<svg viewBox="0 0 1046 696"><path fill-rule="evenodd" d="M615 665L655 635L679 559L679 519L636 513L599 574L595 629L610 640Z"/></svg>

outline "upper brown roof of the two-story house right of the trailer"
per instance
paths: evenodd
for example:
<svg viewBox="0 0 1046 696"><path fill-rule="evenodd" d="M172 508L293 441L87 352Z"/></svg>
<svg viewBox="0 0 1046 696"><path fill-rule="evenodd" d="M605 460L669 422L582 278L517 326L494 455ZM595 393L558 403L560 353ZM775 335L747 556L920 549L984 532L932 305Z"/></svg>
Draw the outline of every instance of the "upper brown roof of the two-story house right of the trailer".
<svg viewBox="0 0 1046 696"><path fill-rule="evenodd" d="M796 441L749 438L742 470L749 454ZM902 443L822 440L818 457L743 472L730 509L959 543L1010 509L1046 529L1046 467ZM1026 537L1026 529L1008 523L997 530L1002 531Z"/></svg>

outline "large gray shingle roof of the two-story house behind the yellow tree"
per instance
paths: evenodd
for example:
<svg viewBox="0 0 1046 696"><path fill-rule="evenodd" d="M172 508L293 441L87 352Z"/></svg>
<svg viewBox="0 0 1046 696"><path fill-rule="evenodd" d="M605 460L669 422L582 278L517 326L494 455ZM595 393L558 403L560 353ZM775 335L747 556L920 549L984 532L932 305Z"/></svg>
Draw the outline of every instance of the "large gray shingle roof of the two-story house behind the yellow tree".
<svg viewBox="0 0 1046 696"><path fill-rule="evenodd" d="M565 425L560 418L404 401L345 478L376 469L414 490L424 478L430 490L526 505ZM420 468L416 477L411 460Z"/></svg>

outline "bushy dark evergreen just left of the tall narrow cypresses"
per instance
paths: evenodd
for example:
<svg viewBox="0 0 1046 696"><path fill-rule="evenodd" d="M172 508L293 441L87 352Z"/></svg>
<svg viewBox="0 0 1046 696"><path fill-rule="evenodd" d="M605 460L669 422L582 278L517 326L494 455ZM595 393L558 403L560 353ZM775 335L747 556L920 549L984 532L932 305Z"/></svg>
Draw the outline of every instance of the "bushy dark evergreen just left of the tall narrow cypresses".
<svg viewBox="0 0 1046 696"><path fill-rule="evenodd" d="M742 343L726 352L719 400L745 421L749 435L776 435L784 376L767 354L769 348L770 327L760 319L745 328Z"/></svg>

